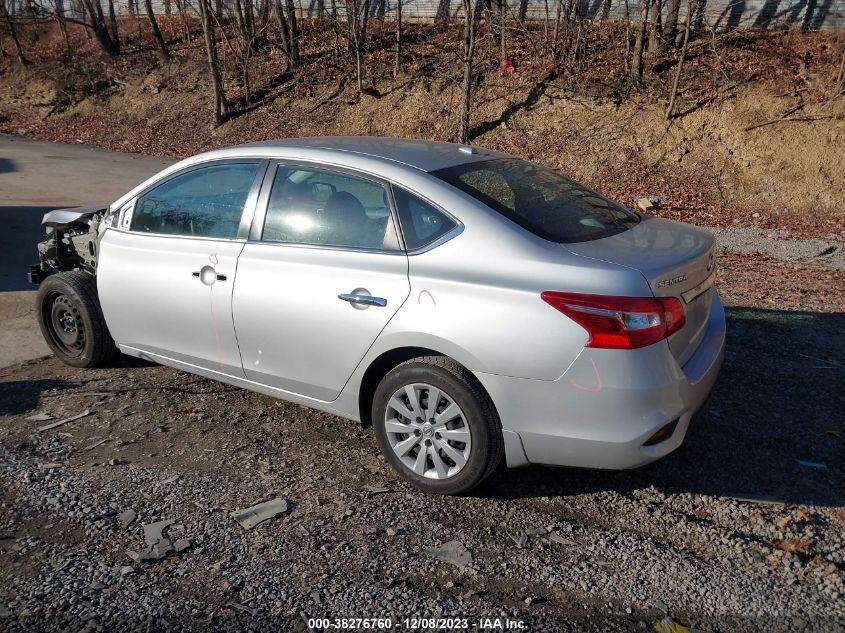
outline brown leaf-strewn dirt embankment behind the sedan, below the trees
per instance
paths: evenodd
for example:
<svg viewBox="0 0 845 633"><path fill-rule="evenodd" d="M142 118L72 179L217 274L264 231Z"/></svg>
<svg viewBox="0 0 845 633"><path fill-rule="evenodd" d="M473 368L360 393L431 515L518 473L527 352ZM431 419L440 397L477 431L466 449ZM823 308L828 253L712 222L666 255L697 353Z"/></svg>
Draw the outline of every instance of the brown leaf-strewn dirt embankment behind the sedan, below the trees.
<svg viewBox="0 0 845 633"><path fill-rule="evenodd" d="M230 76L237 114L217 129L208 124L210 89L196 51L164 65L140 46L120 64L63 67L44 59L21 69L7 62L0 131L165 156L286 136L451 140L460 85L450 37L416 33L396 79L382 68L388 51L374 51L372 90L363 95L328 45L309 44L318 53L294 75L278 75L281 61L271 51L254 64L251 105ZM618 51L595 53L575 79L526 51L514 52L517 72L507 75L482 51L473 142L561 168L629 203L637 194L659 195L669 217L841 239L845 97L825 96L837 46L822 34L794 33L725 35L718 54L697 43L681 84L681 116L670 124L673 58L653 60L650 83L636 92L621 87Z"/></svg>

